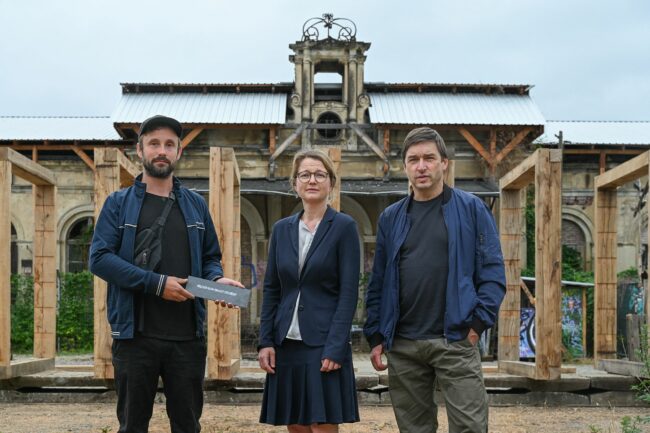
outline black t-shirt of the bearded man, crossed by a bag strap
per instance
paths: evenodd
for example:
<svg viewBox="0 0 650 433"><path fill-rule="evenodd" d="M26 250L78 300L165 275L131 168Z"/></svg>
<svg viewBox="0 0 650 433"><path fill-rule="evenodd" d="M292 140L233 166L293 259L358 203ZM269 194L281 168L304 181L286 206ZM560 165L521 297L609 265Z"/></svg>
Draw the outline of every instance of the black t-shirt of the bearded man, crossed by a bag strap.
<svg viewBox="0 0 650 433"><path fill-rule="evenodd" d="M165 208L169 198L147 193L138 218L138 232L151 227ZM162 259L155 272L187 278L191 272L190 245L183 213L174 201L162 234ZM159 296L136 296L138 332L146 337L163 340L193 340L196 338L194 302L167 301Z"/></svg>

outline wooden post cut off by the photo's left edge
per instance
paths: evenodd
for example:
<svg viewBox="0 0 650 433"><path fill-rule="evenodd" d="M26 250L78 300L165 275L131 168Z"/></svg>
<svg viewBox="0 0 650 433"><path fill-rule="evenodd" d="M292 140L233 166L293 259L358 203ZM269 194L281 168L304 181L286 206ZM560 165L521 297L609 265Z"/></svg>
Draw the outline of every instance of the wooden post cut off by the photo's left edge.
<svg viewBox="0 0 650 433"><path fill-rule="evenodd" d="M11 162L7 160L0 160L0 203L0 370L3 370L11 366Z"/></svg>

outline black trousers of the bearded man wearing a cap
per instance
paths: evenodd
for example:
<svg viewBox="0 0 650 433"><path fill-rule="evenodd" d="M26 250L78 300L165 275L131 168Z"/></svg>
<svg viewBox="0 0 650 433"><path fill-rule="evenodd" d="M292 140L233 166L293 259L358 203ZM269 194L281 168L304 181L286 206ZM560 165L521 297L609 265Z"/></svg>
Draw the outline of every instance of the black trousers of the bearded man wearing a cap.
<svg viewBox="0 0 650 433"><path fill-rule="evenodd" d="M113 340L118 433L147 433L159 377L172 433L199 433L205 356L202 339Z"/></svg>

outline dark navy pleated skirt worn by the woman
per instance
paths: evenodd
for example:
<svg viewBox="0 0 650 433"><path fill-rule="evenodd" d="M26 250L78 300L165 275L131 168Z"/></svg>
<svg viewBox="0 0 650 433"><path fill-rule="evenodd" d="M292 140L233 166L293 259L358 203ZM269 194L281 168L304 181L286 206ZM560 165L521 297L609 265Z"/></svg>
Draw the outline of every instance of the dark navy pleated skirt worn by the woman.
<svg viewBox="0 0 650 433"><path fill-rule="evenodd" d="M275 374L266 375L260 422L273 425L359 421L352 349L338 370L321 373L323 347L284 340L275 348Z"/></svg>

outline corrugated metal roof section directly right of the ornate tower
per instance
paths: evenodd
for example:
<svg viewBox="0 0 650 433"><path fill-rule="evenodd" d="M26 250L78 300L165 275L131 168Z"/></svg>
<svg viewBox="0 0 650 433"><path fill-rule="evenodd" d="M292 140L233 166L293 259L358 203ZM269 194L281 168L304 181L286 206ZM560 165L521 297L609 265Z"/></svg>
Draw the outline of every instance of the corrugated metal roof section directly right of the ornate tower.
<svg viewBox="0 0 650 433"><path fill-rule="evenodd" d="M370 93L373 123L402 125L543 125L528 95Z"/></svg>

